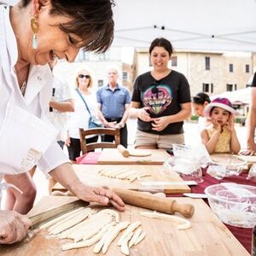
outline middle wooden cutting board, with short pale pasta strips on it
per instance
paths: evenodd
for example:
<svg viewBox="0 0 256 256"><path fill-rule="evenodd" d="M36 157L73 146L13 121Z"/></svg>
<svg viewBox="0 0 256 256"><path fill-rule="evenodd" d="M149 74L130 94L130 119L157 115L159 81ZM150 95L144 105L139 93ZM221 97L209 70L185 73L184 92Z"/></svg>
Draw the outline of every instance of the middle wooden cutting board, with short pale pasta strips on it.
<svg viewBox="0 0 256 256"><path fill-rule="evenodd" d="M143 189L140 181L174 181L179 182L183 181L181 177L176 172L170 172L170 176L166 176L161 173L162 166L108 166L108 165L73 165L74 171L77 173L79 178L83 183L88 183L93 186L108 186L121 189ZM135 180L134 182L125 181L119 178L105 177L99 175L97 172L100 170L127 170L128 171L137 171L142 173L149 173L151 176L142 177L140 181ZM157 187L156 187L157 189ZM183 194L190 192L188 185L164 185L160 188L159 192L164 192L166 194ZM164 189L164 191L163 191ZM60 183L56 183L53 190L66 191Z"/></svg>

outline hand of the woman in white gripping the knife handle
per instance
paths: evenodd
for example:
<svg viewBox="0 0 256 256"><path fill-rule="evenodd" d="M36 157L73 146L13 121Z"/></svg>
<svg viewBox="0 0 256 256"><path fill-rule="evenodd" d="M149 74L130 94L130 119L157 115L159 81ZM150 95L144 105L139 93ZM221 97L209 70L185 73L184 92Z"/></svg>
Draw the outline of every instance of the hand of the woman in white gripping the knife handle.
<svg viewBox="0 0 256 256"><path fill-rule="evenodd" d="M0 211L0 243L22 240L31 225L30 219L18 212Z"/></svg>

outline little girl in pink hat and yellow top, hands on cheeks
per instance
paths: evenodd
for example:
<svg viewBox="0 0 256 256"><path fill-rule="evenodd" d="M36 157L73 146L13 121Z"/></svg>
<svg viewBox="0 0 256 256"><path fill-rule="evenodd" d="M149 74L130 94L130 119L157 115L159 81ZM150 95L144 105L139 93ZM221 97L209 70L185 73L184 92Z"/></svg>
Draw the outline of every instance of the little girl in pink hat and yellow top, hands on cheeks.
<svg viewBox="0 0 256 256"><path fill-rule="evenodd" d="M212 125L201 131L201 141L209 154L234 153L240 151L236 136L234 115L239 113L232 108L227 98L216 98L204 109L205 116L210 117Z"/></svg>

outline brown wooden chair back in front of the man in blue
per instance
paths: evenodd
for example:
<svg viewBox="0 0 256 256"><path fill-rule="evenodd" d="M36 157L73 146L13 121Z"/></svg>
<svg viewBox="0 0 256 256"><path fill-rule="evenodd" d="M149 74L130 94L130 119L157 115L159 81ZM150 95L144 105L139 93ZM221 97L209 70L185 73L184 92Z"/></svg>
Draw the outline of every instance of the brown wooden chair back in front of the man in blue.
<svg viewBox="0 0 256 256"><path fill-rule="evenodd" d="M79 129L80 145L83 154L96 148L117 148L120 143L120 130L114 128L93 128L93 129ZM85 137L88 135L112 135L114 136L113 143L89 143L86 144Z"/></svg>

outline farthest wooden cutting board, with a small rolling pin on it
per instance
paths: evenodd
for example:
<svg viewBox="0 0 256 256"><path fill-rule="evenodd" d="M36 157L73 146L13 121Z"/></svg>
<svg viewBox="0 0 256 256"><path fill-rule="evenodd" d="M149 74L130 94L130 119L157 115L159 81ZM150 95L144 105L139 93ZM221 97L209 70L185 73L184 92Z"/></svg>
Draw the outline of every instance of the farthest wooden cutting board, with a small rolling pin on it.
<svg viewBox="0 0 256 256"><path fill-rule="evenodd" d="M162 165L170 157L163 149L132 149L134 152L143 150L148 156L124 157L117 148L103 148L97 163L99 165Z"/></svg>

